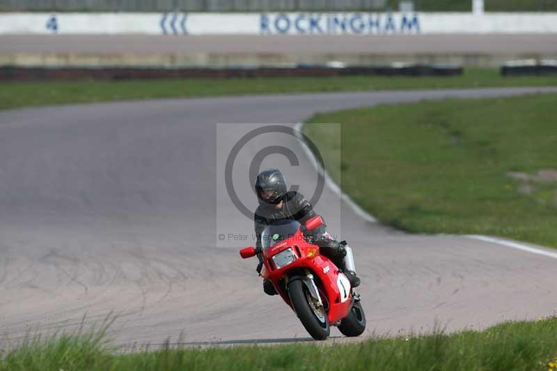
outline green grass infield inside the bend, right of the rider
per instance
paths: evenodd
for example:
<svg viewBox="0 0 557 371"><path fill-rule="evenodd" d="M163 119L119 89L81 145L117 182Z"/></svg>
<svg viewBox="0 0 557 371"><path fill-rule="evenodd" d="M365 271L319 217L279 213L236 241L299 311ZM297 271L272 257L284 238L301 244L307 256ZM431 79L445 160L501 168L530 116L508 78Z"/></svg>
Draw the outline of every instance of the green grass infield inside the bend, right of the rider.
<svg viewBox="0 0 557 371"><path fill-rule="evenodd" d="M327 148L343 190L383 223L557 247L556 103L548 94L381 105L318 114L304 130Z"/></svg>

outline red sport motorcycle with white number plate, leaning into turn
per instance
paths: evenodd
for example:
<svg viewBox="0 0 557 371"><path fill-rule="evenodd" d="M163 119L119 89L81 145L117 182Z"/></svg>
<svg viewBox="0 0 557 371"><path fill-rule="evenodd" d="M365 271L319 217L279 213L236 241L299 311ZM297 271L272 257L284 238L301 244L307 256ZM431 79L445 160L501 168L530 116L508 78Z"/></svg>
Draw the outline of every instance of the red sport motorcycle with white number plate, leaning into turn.
<svg viewBox="0 0 557 371"><path fill-rule="evenodd" d="M306 231L323 223L320 216L306 222ZM301 324L315 340L325 340L332 326L345 336L359 336L366 329L359 294L348 278L324 255L319 247L306 242L300 223L278 221L261 235L262 249L242 248L242 258L262 253L261 276L272 281L276 292L295 311ZM347 258L352 260L352 250Z"/></svg>

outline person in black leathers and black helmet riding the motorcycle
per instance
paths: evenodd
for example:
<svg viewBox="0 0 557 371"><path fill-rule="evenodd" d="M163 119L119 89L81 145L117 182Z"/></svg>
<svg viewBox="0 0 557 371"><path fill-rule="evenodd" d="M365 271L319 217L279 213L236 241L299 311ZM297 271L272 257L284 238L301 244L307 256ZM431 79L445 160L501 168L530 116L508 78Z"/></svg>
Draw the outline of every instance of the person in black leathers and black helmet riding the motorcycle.
<svg viewBox="0 0 557 371"><path fill-rule="evenodd" d="M281 219L293 219L304 226L308 219L317 215L313 211L311 203L302 194L296 191L287 191L285 177L276 168L269 168L259 173L256 178L255 190L259 202L253 216L257 236L257 251L261 251L261 233L269 224ZM308 242L319 246L320 253L331 259L334 265L343 271L352 287L357 287L360 284L356 272L346 269L345 245L333 239L324 224L311 232L306 232L304 229L302 229L302 232L304 232L304 237ZM260 273L263 266L262 254L258 253L257 256L259 258L257 271ZM269 295L276 294L272 282L268 279L263 280L263 291Z"/></svg>

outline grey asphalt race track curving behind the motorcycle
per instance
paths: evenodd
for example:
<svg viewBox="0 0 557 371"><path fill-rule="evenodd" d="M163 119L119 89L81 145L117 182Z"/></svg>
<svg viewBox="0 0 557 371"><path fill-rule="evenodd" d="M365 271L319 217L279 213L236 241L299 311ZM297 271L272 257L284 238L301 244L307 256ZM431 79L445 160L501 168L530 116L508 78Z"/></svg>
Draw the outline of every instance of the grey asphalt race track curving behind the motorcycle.
<svg viewBox="0 0 557 371"><path fill-rule="evenodd" d="M390 91L157 100L0 112L0 338L71 330L116 315L118 344L281 342L308 334L242 260L253 223L232 205L223 159L253 125L378 103L519 95L551 88ZM227 125L216 125L228 123ZM260 127L261 125L257 125ZM299 141L262 134L238 153L238 197L255 207L247 168L271 155L313 193ZM343 150L350 150L344 148ZM482 328L557 309L557 261L464 237L406 235L364 221L326 187L315 205L348 239L363 280L368 335ZM340 336L336 329L331 336Z"/></svg>

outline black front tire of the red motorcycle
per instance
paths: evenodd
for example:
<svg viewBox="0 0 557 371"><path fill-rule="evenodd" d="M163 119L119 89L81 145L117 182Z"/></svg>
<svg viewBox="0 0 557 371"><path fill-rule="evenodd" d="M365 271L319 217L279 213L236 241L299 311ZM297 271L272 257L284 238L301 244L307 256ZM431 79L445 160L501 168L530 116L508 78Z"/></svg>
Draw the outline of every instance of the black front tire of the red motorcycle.
<svg viewBox="0 0 557 371"><path fill-rule="evenodd" d="M323 309L322 319L314 313L312 303L309 302L311 299L308 299L311 298L308 287L301 280L292 281L288 284L288 296L301 324L311 337L315 340L327 339L331 333L327 313Z"/></svg>

